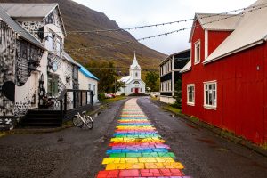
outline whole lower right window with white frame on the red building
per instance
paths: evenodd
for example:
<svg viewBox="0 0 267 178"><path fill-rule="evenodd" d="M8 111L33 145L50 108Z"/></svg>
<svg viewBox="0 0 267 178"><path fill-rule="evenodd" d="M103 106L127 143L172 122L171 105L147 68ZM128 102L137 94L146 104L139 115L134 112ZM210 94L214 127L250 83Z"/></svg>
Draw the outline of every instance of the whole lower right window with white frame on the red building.
<svg viewBox="0 0 267 178"><path fill-rule="evenodd" d="M217 107L217 83L204 83L204 107L207 109L216 109Z"/></svg>

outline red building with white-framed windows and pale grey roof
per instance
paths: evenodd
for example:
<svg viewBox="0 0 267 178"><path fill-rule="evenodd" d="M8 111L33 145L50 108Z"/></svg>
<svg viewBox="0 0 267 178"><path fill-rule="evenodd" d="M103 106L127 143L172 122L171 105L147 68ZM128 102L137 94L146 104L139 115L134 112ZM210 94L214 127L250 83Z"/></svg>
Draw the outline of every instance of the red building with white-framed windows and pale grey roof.
<svg viewBox="0 0 267 178"><path fill-rule="evenodd" d="M181 70L184 114L256 143L267 142L266 5L239 16L196 14Z"/></svg>

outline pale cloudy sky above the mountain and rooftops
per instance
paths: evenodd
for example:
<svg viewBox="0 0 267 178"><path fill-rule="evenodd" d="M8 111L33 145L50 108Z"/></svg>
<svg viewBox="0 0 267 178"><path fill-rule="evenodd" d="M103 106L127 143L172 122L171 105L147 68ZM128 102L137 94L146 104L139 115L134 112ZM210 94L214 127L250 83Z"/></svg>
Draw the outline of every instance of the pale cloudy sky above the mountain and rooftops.
<svg viewBox="0 0 267 178"><path fill-rule="evenodd" d="M109 19L116 20L120 28L191 19L195 12L227 12L253 4L255 0L74 0L89 8L104 12ZM135 38L154 36L179 28L190 27L192 21L129 31ZM176 53L190 47L190 30L142 41L161 53Z"/></svg>

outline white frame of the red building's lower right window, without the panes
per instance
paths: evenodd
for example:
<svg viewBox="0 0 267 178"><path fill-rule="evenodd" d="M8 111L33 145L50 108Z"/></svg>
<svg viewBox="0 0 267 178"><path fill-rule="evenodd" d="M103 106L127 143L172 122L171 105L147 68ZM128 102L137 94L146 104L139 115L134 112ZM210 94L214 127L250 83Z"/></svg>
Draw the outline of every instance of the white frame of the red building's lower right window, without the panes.
<svg viewBox="0 0 267 178"><path fill-rule="evenodd" d="M212 87L211 89L209 89L209 85L214 85L214 88ZM207 86L207 87L206 87ZM206 98L206 92L208 92L207 94L207 97L208 99ZM218 93L218 87L217 87L217 81L214 80L214 81L208 81L208 82L204 82L204 108L206 109L217 109L217 103L218 103L218 97L217 97L217 94ZM211 94L211 97L212 97L212 103L211 104L208 104L206 103L207 100L209 100L209 97ZM215 97L215 99L213 98Z"/></svg>

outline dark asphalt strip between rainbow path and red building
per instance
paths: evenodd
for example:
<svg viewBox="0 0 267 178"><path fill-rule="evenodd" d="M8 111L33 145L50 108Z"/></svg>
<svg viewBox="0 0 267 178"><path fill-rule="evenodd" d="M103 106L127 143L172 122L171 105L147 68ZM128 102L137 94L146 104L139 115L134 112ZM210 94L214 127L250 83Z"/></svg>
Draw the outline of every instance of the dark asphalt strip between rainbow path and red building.
<svg viewBox="0 0 267 178"><path fill-rule="evenodd" d="M139 99L138 104L170 145L177 161L185 166L186 175L195 178L267 177L266 157L173 117L148 98Z"/></svg>

